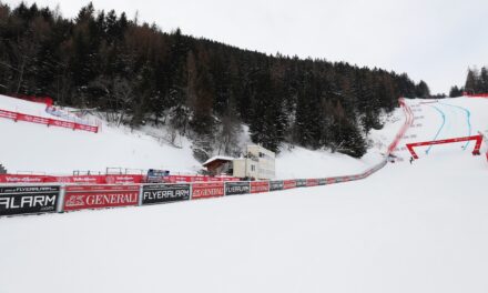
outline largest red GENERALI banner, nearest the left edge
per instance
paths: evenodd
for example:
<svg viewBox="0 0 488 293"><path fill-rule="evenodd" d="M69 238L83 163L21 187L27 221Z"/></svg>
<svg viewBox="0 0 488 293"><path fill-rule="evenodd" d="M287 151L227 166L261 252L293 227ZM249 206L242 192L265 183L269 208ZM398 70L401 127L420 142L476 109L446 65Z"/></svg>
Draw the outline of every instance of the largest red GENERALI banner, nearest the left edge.
<svg viewBox="0 0 488 293"><path fill-rule="evenodd" d="M64 211L136 205L139 185L67 186Z"/></svg>

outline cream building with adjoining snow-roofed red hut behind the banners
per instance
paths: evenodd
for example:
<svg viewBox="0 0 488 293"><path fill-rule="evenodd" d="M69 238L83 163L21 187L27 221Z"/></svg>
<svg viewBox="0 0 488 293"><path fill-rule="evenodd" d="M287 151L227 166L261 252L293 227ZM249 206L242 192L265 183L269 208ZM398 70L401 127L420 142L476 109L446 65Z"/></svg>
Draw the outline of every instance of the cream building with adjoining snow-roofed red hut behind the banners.
<svg viewBox="0 0 488 293"><path fill-rule="evenodd" d="M241 158L217 155L203 163L211 175L232 175L255 180L275 178L275 153L260 145L247 145Z"/></svg>

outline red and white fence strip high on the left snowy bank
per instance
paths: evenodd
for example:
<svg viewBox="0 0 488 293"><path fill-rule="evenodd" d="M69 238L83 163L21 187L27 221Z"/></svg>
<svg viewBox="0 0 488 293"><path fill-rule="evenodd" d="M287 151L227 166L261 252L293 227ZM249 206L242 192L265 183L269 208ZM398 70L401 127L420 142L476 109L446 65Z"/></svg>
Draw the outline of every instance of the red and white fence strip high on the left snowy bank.
<svg viewBox="0 0 488 293"><path fill-rule="evenodd" d="M74 122L69 122L69 121L62 121L62 120L55 120L55 119L51 119L51 118L29 115L29 114L23 114L23 113L12 112L12 111L1 110L1 109L0 109L0 118L11 119L16 122L17 121L26 121L26 122L43 124L43 125L48 125L48 127L52 125L52 127L72 129L72 130L89 131L89 132L94 132L94 133L99 132L98 127L85 125L85 124L80 124L80 123L74 123Z"/></svg>

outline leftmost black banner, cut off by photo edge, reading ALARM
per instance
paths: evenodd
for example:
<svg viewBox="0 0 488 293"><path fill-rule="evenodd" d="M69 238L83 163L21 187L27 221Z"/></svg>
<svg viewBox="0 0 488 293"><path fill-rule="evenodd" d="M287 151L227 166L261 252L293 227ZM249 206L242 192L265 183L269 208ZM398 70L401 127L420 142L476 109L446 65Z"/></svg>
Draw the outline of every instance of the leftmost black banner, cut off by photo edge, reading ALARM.
<svg viewBox="0 0 488 293"><path fill-rule="evenodd" d="M53 213L60 186L1 186L0 215Z"/></svg>

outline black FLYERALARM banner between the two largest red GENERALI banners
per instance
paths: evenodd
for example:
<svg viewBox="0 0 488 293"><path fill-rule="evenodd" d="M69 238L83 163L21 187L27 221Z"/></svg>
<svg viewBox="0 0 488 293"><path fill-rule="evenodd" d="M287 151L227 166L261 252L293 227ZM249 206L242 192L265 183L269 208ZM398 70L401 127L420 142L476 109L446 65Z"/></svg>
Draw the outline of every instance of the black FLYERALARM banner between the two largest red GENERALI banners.
<svg viewBox="0 0 488 293"><path fill-rule="evenodd" d="M142 186L142 204L190 200L190 184L150 184Z"/></svg>

